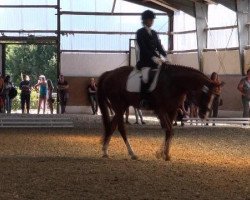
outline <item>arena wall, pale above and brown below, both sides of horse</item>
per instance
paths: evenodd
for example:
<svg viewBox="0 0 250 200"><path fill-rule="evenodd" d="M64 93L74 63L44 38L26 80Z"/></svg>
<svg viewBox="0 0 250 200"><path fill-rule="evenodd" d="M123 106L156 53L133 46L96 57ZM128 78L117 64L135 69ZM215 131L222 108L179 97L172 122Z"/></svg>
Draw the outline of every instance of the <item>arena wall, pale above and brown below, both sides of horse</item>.
<svg viewBox="0 0 250 200"><path fill-rule="evenodd" d="M204 52L204 72L209 76L213 71L220 74L226 85L222 90L222 110L241 110L241 96L237 91L241 79L239 53L237 50L219 52L225 70L215 51ZM250 51L245 52L246 67L250 66ZM197 53L170 54L169 59L180 65L199 69ZM70 84L70 100L67 112L90 113L87 86L90 77L98 78L103 72L128 65L128 54L63 53L61 72Z"/></svg>

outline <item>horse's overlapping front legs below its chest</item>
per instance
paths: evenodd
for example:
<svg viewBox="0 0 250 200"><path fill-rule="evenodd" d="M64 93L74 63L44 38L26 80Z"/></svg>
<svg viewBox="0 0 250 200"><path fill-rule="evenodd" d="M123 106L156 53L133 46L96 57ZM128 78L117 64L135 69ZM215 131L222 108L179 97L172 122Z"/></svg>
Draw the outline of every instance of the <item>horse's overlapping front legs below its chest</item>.
<svg viewBox="0 0 250 200"><path fill-rule="evenodd" d="M165 140L163 148L156 153L157 158L163 158L166 161L170 160L170 145L173 137L172 121L168 115L159 115L161 127L165 130Z"/></svg>

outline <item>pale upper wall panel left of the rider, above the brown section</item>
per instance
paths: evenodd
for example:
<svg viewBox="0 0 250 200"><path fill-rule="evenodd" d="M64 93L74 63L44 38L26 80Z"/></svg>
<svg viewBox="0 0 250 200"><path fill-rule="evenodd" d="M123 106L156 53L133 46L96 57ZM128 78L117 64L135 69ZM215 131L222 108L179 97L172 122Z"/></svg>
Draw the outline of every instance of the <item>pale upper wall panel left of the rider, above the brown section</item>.
<svg viewBox="0 0 250 200"><path fill-rule="evenodd" d="M96 77L128 65L128 54L62 53L61 72L65 76Z"/></svg>

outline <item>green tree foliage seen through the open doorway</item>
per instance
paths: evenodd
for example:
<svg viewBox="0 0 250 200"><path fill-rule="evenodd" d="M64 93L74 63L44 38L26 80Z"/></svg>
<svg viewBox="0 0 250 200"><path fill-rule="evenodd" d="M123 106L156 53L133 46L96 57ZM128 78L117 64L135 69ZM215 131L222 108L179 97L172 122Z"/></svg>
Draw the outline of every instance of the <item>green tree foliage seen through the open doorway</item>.
<svg viewBox="0 0 250 200"><path fill-rule="evenodd" d="M32 85L40 75L55 84L57 79L55 45L8 45L6 48L6 74L18 86L22 74L30 77Z"/></svg>

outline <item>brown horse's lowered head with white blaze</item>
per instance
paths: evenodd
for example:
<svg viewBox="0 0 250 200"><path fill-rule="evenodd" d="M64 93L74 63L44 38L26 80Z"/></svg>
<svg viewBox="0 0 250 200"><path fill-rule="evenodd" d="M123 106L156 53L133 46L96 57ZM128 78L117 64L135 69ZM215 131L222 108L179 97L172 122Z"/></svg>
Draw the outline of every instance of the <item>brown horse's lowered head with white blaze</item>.
<svg viewBox="0 0 250 200"><path fill-rule="evenodd" d="M212 108L213 100L215 97L215 89L219 85L211 82L209 85L204 85L198 95L199 117L205 119Z"/></svg>

